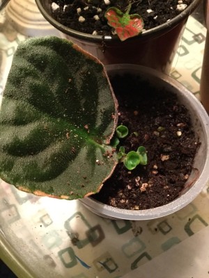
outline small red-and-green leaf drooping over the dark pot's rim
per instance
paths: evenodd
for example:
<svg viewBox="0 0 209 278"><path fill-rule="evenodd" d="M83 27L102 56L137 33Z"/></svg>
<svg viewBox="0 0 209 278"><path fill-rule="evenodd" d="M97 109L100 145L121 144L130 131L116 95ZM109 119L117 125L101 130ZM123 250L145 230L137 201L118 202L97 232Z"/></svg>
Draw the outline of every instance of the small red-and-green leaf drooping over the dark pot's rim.
<svg viewBox="0 0 209 278"><path fill-rule="evenodd" d="M130 15L131 5L125 13L116 7L111 7L105 13L107 23L113 27L121 41L139 35L144 28L144 21L140 15Z"/></svg>

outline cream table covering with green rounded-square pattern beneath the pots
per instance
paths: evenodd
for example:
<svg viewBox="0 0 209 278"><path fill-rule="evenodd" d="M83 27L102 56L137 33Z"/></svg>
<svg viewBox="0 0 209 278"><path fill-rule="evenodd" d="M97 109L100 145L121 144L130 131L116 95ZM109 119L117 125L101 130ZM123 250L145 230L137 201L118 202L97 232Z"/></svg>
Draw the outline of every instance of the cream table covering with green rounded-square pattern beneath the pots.
<svg viewBox="0 0 209 278"><path fill-rule="evenodd" d="M205 38L206 28L189 17L171 71L171 76L196 97L199 97ZM15 32L1 16L0 97L13 54L22 40L25 36ZM163 254L176 254L178 258L184 253L187 240L194 238L196 241L192 243L200 250L194 265L196 263L197 270L201 271L197 262L204 254L196 235L208 231L208 208L209 188L206 186L194 202L167 217L135 222L107 220L88 211L79 201L36 197L0 181L0 256L23 278L119 278L124 275L162 278L163 275L157 276L157 259ZM209 245L209 238L205 244ZM152 267L156 271L153 272ZM167 269L169 265L162 267ZM153 274L149 275L149 270ZM179 276L183 272L178 268L175 271L165 277L191 277L187 276L189 272ZM197 273L196 277L208 277L208 273L204 273L205 276Z"/></svg>

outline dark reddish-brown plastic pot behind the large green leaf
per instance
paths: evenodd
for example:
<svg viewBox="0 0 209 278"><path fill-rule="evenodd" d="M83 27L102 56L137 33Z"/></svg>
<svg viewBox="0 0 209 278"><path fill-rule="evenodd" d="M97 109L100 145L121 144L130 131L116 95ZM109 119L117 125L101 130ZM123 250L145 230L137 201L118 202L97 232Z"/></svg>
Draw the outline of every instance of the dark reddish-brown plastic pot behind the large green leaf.
<svg viewBox="0 0 209 278"><path fill-rule="evenodd" d="M194 0L188 8L169 22L144 31L138 37L125 42L121 42L116 36L102 38L101 35L89 35L65 27L51 15L52 1L36 0L36 3L42 15L64 34L63 37L99 58L104 65L133 63L169 73L187 18L200 1Z"/></svg>

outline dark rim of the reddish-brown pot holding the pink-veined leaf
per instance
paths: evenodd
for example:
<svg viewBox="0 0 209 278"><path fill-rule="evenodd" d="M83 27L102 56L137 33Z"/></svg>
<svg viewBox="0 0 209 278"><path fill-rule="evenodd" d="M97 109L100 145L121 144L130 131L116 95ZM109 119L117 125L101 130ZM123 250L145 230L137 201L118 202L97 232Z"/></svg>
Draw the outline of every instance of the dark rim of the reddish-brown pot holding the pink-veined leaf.
<svg viewBox="0 0 209 278"><path fill-rule="evenodd" d="M74 38L79 38L82 40L88 40L91 42L121 42L121 40L118 38L117 35L91 35L82 33L79 31L75 31L72 28L68 28L64 26L63 24L60 24L57 22L49 13L47 13L47 10L42 6L43 0L35 0L36 4L38 6L38 9L40 10L40 13L42 13L43 17L47 19L47 21L52 24L55 28L59 29L59 31L71 35ZM46 0L44 0L46 1ZM157 33L167 33L169 30L173 29L178 25L179 22L183 21L186 17L189 17L189 15L193 12L193 10L199 5L201 0L193 0L192 3L183 10L179 15L176 17L173 17L169 22L165 22L164 24L161 24L160 26L156 26L155 28L150 28L146 31L143 31L139 36L130 38L130 40L136 40L137 38L147 38L153 35L157 35ZM124 44L125 42L123 42Z"/></svg>

